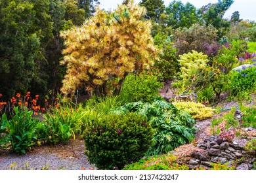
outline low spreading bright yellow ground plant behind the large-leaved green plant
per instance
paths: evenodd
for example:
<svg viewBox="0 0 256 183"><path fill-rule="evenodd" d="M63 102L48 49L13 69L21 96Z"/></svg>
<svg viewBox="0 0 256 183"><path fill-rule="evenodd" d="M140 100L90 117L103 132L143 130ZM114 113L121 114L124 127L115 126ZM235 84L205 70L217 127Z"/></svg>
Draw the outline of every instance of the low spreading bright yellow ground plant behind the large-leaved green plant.
<svg viewBox="0 0 256 183"><path fill-rule="evenodd" d="M211 118L213 116L213 108L205 107L202 103L194 102L173 102L173 105L178 109L182 109L188 113L195 120L204 120L206 118Z"/></svg>

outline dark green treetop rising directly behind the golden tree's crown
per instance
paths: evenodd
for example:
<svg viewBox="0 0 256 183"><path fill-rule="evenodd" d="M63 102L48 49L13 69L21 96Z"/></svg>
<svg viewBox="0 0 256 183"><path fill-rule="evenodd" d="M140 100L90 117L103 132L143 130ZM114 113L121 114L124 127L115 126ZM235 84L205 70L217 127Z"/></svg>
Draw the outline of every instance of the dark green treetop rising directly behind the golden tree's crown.
<svg viewBox="0 0 256 183"><path fill-rule="evenodd" d="M154 22L158 22L160 14L162 14L165 9L162 0L142 0L140 1L140 5L147 10L145 18Z"/></svg>

